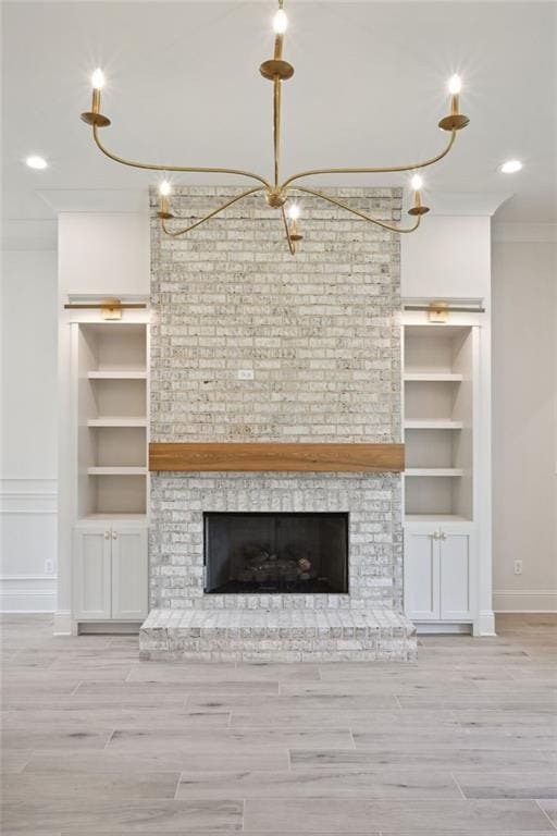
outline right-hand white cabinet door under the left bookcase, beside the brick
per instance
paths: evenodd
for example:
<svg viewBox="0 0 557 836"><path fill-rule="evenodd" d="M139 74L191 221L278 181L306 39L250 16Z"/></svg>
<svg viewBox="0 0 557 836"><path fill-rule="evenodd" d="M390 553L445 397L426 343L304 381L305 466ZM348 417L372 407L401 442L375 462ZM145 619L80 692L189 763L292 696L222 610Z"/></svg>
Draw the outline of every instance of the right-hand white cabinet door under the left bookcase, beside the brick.
<svg viewBox="0 0 557 836"><path fill-rule="evenodd" d="M112 529L112 618L147 617L147 530L133 526Z"/></svg>

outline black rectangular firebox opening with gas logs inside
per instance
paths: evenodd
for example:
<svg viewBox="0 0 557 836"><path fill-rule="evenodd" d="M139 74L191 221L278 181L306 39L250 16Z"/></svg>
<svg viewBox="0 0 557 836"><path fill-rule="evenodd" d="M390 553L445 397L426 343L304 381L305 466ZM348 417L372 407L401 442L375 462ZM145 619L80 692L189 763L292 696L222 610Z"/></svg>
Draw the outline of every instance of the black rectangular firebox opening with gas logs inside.
<svg viewBox="0 0 557 836"><path fill-rule="evenodd" d="M205 513L205 591L348 592L348 514Z"/></svg>

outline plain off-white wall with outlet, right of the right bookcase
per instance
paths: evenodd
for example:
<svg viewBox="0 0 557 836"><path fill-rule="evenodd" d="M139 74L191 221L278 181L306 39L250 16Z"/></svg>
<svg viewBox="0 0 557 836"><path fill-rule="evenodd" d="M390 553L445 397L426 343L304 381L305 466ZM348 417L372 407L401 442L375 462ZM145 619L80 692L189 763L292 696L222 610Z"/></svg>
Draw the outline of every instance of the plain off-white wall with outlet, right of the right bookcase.
<svg viewBox="0 0 557 836"><path fill-rule="evenodd" d="M493 246L494 599L557 611L557 245ZM513 574L513 562L523 574Z"/></svg>

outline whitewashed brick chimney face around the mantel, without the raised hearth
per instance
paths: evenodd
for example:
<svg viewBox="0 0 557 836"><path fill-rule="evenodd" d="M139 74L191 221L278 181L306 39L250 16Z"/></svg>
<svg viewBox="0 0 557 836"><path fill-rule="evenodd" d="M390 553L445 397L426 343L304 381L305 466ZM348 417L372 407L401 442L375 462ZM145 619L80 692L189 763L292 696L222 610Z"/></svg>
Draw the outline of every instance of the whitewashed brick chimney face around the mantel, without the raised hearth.
<svg viewBox="0 0 557 836"><path fill-rule="evenodd" d="M183 187L173 209L193 222L236 192ZM327 192L400 218L400 189ZM400 441L397 235L304 196L293 257L262 195L184 238L162 234L157 204L152 193L152 441ZM237 495L245 511L348 511L350 595L314 605L401 606L400 478L335 474L153 475L153 606L224 605L202 592L202 511L240 511ZM270 597L225 598L262 606ZM298 607L306 597L272 599Z"/></svg>

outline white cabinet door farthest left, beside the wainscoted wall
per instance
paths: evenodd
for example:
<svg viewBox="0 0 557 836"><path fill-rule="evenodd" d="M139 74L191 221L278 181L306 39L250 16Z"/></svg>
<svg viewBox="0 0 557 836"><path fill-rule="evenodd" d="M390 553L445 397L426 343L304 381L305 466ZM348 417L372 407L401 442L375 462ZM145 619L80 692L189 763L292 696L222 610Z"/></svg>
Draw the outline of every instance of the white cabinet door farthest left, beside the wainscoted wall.
<svg viewBox="0 0 557 836"><path fill-rule="evenodd" d="M76 529L74 538L74 617L110 618L110 531L99 528Z"/></svg>

